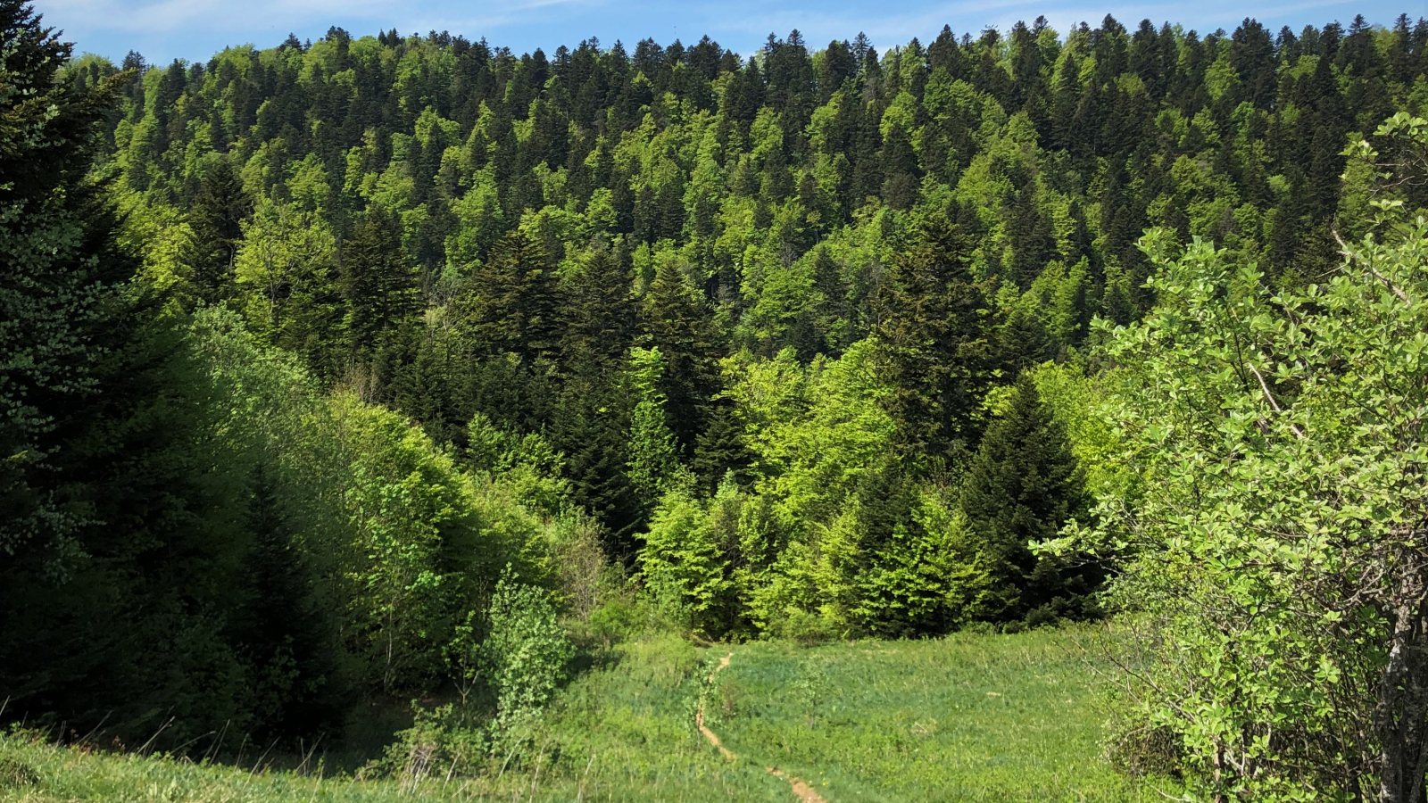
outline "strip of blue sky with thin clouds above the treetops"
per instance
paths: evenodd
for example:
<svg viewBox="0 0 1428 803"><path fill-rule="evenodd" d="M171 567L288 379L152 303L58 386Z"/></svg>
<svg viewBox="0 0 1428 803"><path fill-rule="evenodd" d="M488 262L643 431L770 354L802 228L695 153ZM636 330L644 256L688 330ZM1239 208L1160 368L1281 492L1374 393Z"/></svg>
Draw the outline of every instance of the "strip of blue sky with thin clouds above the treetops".
<svg viewBox="0 0 1428 803"><path fill-rule="evenodd" d="M675 37L690 44L710 34L724 47L748 54L768 33L785 36L798 29L821 47L831 39L851 39L867 31L875 47L887 49L920 37L927 43L951 24L957 33L988 26L1007 30L1020 19L1044 14L1065 31L1085 20L1092 24L1107 13L1127 27L1141 19L1170 20L1201 33L1232 30L1254 16L1275 30L1288 24L1331 20L1348 23L1364 14L1371 23L1389 24L1398 14L1428 17L1428 0L1391 3L1367 0L1268 0L1262 4L1230 0L1198 3L1140 3L1087 0L1032 3L1025 0L34 0L46 23L63 29L77 51L119 60L139 50L150 63L173 59L207 60L230 44L271 47L288 31L317 39L328 26L353 34L396 27L401 33L450 30L468 39L486 37L517 53L558 44L574 46L598 36L604 44L617 39L633 44L653 36L663 44Z"/></svg>

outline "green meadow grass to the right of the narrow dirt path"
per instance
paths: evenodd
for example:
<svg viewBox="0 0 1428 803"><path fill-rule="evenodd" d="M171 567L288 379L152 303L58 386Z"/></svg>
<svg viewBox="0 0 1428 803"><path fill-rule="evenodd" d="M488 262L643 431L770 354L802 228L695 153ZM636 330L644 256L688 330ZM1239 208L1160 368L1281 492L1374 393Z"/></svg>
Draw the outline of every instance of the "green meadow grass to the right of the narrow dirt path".
<svg viewBox="0 0 1428 803"><path fill-rule="evenodd" d="M1102 757L1091 639L750 644L720 673L711 726L830 802L1162 800L1154 787L1172 783L1127 779Z"/></svg>

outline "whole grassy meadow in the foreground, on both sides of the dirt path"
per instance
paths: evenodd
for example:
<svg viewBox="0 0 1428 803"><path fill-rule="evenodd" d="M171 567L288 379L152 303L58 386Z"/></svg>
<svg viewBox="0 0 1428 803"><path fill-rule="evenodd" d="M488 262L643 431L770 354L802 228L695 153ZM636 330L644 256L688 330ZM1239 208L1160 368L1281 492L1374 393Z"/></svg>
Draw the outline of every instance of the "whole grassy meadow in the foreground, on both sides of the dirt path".
<svg viewBox="0 0 1428 803"><path fill-rule="evenodd" d="M705 677L733 652L730 666ZM0 737L0 802L1160 800L1101 759L1104 712L1068 632L698 650L625 644L563 693L527 754L474 779L396 780L198 766ZM708 726L730 760L694 726ZM460 776L461 773L457 773ZM1155 783L1171 792L1168 783Z"/></svg>

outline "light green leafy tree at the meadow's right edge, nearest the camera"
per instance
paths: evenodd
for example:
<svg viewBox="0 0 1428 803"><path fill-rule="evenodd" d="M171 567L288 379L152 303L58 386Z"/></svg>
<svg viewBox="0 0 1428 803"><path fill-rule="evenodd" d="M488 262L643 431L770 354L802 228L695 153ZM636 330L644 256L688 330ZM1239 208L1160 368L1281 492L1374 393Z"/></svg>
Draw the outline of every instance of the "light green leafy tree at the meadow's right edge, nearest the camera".
<svg viewBox="0 0 1428 803"><path fill-rule="evenodd" d="M1134 509L1125 683L1217 799L1421 800L1428 762L1428 223L1275 293L1170 236L1160 306L1110 329Z"/></svg>

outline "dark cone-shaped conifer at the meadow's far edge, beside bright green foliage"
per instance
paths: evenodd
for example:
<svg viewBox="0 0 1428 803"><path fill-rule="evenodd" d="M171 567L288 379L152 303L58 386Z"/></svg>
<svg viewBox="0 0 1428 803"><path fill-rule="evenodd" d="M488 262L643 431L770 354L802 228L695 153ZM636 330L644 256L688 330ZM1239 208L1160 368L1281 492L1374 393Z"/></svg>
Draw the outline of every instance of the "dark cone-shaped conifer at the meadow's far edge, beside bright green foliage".
<svg viewBox="0 0 1428 803"><path fill-rule="evenodd" d="M992 569L982 617L1038 623L1092 613L1087 594L1100 580L1095 567L1038 557L1027 546L1055 537L1087 506L1065 430L1028 374L1017 381L1008 410L987 427L961 504Z"/></svg>

